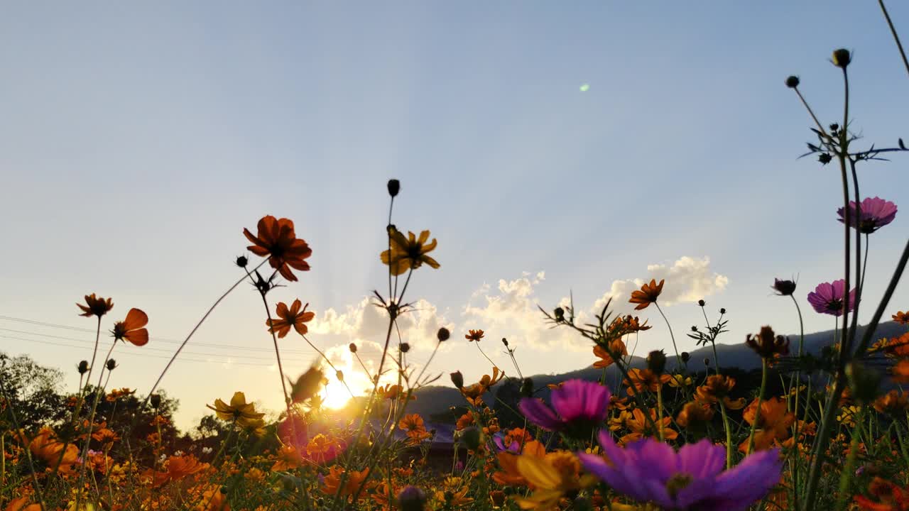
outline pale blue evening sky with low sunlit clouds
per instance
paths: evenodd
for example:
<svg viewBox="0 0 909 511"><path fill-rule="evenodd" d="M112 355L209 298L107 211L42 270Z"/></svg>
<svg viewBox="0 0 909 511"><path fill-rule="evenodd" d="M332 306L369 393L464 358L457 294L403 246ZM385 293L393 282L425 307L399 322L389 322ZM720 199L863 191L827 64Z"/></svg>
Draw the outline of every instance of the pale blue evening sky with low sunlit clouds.
<svg viewBox="0 0 909 511"><path fill-rule="evenodd" d="M909 26L909 5L892 4ZM784 78L801 77L824 123L841 120L837 47L854 50L859 144L909 135L909 76L866 3L2 5L0 350L64 369L75 388L95 326L75 303L110 296L105 331L130 307L150 317L152 341L116 346L108 382L143 394L242 276L243 228L276 215L295 221L313 269L269 299L309 303L310 339L362 388L346 346L369 365L384 341L365 300L385 286L391 177L395 224L438 240L441 268L415 272L402 336L419 367L437 328L452 329L427 369L445 385L454 370L489 372L464 340L475 328L509 374L501 337L524 375L590 365L591 346L537 305L573 296L589 314L614 296L625 313L654 277L680 350L704 322L700 298L711 321L728 311L721 342L762 325L797 333L774 277L798 277L807 331L829 329L805 296L842 276L840 178L798 159L813 135ZM863 165L863 195L906 204L904 158ZM905 225L897 215L872 235L863 322ZM899 288L892 312L907 301ZM654 307L641 316L654 328L637 352L671 352ZM289 376L315 361L294 334L280 346ZM238 390L277 410L274 356L261 300L239 286L165 376L177 425Z"/></svg>

